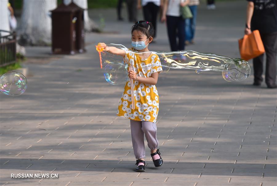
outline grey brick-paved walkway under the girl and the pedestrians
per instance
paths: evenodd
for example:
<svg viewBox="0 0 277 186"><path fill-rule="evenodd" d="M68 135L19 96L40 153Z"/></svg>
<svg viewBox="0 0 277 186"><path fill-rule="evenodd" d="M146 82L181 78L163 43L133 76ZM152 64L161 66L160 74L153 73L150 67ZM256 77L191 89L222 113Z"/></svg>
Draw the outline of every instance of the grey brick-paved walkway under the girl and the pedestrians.
<svg viewBox="0 0 277 186"><path fill-rule="evenodd" d="M245 8L245 2L217 3L214 12L200 6L196 44L187 49L239 57ZM100 12L91 17L97 21ZM1 94L0 185L276 185L276 90L252 87L252 74L243 82L192 70L161 75L157 137L164 164L154 167L145 140L146 172L134 171L129 120L115 115L124 85L104 80L94 48L129 46L130 26L107 17L106 31L115 33L87 34L85 54L27 64L26 92ZM158 28L151 49L169 51L165 26ZM29 56L50 51L26 49ZM10 178L39 172L59 178Z"/></svg>

